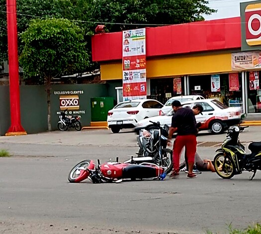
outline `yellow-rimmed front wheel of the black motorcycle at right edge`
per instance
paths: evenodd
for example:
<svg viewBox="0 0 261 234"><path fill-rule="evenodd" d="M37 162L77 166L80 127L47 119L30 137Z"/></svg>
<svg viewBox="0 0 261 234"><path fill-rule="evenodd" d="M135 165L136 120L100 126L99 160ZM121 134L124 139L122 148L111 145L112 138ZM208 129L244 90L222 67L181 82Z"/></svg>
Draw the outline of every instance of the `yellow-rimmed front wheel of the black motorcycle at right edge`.
<svg viewBox="0 0 261 234"><path fill-rule="evenodd" d="M219 152L215 156L214 167L218 176L223 179L231 179L236 174L235 163L230 157L225 157L224 152Z"/></svg>

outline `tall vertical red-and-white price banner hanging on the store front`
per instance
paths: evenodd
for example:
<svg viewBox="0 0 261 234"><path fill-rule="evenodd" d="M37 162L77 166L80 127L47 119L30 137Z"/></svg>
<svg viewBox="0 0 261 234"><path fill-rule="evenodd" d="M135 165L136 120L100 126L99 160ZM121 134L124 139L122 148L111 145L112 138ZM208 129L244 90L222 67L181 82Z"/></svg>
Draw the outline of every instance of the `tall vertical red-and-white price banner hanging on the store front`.
<svg viewBox="0 0 261 234"><path fill-rule="evenodd" d="M123 31L123 100L146 99L145 28Z"/></svg>

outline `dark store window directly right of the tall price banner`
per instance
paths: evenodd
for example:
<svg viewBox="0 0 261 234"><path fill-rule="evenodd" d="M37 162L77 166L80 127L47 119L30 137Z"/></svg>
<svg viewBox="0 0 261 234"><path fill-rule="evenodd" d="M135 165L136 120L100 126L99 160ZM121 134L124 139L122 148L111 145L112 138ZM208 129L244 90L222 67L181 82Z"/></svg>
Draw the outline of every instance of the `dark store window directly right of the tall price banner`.
<svg viewBox="0 0 261 234"><path fill-rule="evenodd" d="M150 79L150 96L165 104L170 98L184 95L184 77Z"/></svg>

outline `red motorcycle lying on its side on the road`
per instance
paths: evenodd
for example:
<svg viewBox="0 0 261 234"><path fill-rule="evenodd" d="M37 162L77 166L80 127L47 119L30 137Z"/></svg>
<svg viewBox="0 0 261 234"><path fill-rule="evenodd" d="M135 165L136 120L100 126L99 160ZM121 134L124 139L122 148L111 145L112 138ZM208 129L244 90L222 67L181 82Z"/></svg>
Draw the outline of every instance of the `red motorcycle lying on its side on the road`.
<svg viewBox="0 0 261 234"><path fill-rule="evenodd" d="M135 164L133 157L130 163L121 163L117 157L116 162L107 162L96 166L93 160L79 162L68 175L70 183L79 183L85 179L98 183L120 183L125 179L130 180L163 180L166 177L166 168L153 163Z"/></svg>

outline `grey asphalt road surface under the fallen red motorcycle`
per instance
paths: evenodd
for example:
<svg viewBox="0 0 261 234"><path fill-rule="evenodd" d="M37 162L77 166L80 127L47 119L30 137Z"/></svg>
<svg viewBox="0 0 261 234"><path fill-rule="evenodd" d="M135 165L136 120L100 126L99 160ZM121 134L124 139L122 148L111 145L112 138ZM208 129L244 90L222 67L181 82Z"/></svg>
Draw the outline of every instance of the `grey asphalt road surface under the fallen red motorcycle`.
<svg viewBox="0 0 261 234"><path fill-rule="evenodd" d="M244 140L258 134L253 129L253 133L242 133ZM66 134L64 138L60 132L53 134L62 141L71 134L76 142L78 133L61 133ZM0 148L13 155L0 158L0 233L201 234L211 230L223 234L230 223L245 228L261 220L260 172L253 181L248 172L231 180L203 172L196 179L186 179L181 173L178 179L164 181L67 182L70 169L82 159L105 161L119 156L124 160L133 155L137 148L130 134L122 133L117 146L107 144L107 138L100 145L51 143L48 139L53 138L47 133L38 134L39 139L29 135L25 142L26 136L0 137ZM218 142L224 136L211 136L211 140ZM29 137L45 143L30 143ZM108 137L116 136L108 133ZM129 138L132 145L120 146ZM216 148L198 147L198 151L204 158L213 158Z"/></svg>

